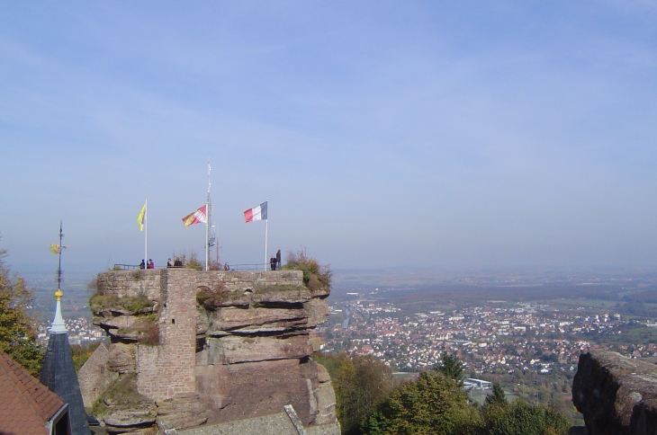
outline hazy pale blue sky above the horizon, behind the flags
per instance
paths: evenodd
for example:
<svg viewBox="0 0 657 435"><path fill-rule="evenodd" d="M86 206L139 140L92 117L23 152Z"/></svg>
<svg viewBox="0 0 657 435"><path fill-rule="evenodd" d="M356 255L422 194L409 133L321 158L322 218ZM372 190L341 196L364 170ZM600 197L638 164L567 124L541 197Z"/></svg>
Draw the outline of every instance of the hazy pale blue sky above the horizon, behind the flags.
<svg viewBox="0 0 657 435"><path fill-rule="evenodd" d="M7 2L14 271L304 246L336 268L657 265L657 5Z"/></svg>

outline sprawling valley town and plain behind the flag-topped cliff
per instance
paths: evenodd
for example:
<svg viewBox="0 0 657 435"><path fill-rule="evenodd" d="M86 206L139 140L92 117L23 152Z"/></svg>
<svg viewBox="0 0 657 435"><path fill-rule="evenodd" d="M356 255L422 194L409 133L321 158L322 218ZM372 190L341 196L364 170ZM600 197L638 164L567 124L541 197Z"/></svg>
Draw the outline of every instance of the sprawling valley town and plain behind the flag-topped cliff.
<svg viewBox="0 0 657 435"><path fill-rule="evenodd" d="M72 344L107 340L86 305L92 281L67 282ZM46 340L54 299L48 279L37 283L35 308L44 314L39 337ZM315 332L321 352L371 355L397 377L434 368L447 352L463 362L465 377L498 382L510 397L557 406L575 419L571 389L581 352L605 349L657 361L653 274L471 273L432 284L417 275L405 283L399 274L354 280L338 271L334 287L329 320ZM471 397L481 401L489 393L474 386Z"/></svg>

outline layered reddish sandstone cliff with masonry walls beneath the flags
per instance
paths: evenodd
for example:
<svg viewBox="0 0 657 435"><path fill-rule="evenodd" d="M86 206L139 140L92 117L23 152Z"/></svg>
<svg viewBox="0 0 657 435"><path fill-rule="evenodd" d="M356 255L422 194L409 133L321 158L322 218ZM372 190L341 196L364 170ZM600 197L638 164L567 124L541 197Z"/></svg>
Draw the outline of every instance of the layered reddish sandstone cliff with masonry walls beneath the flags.
<svg viewBox="0 0 657 435"><path fill-rule="evenodd" d="M90 307L112 342L105 382L89 382L110 384L94 392L94 409L115 433L229 422L286 404L304 425L336 424L329 375L310 359L329 289L309 287L302 271L100 273ZM127 394L112 389L120 382Z"/></svg>

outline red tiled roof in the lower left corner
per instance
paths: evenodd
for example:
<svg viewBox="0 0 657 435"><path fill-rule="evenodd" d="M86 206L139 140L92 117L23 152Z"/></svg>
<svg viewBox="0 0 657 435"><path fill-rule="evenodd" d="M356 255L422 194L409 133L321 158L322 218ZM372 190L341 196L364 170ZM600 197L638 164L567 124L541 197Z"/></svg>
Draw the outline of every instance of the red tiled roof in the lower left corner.
<svg viewBox="0 0 657 435"><path fill-rule="evenodd" d="M0 433L44 435L64 401L0 351Z"/></svg>

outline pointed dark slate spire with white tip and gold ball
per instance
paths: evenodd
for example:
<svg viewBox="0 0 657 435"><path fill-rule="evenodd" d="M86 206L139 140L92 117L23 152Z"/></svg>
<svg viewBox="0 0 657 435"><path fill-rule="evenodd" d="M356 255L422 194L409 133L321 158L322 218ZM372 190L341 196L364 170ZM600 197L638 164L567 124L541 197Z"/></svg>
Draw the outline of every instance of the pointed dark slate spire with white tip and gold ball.
<svg viewBox="0 0 657 435"><path fill-rule="evenodd" d="M68 404L71 435L89 435L89 424L80 394L80 385L77 382L76 369L73 367L66 325L61 318L61 290L57 290L55 297L57 297L55 321L50 328L40 381Z"/></svg>

